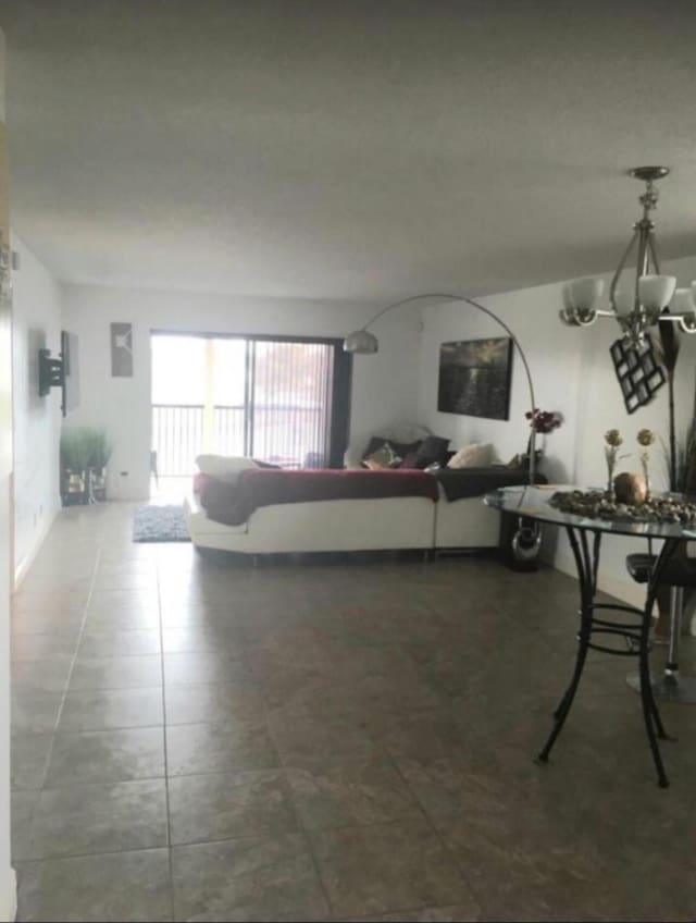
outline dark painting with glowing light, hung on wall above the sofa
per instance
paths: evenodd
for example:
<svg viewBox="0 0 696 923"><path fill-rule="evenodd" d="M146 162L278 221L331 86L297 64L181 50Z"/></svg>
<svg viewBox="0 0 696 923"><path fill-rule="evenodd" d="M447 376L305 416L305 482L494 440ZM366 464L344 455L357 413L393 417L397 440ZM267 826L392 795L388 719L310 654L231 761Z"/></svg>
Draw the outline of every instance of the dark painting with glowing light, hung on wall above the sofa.
<svg viewBox="0 0 696 923"><path fill-rule="evenodd" d="M464 340L439 349L437 409L492 420L510 419L512 340Z"/></svg>

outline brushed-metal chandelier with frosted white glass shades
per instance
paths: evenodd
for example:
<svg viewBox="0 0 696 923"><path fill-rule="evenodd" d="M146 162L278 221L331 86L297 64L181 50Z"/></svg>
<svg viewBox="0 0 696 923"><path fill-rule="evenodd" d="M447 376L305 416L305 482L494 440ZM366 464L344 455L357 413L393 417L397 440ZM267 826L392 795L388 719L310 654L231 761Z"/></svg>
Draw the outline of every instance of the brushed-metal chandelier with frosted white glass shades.
<svg viewBox="0 0 696 923"><path fill-rule="evenodd" d="M658 321L679 323L685 333L696 333L696 282L691 288L676 288L673 275L661 275L655 246L655 222L650 212L657 208L656 180L669 173L667 167L636 167L629 174L645 183L638 197L643 217L633 225L633 236L624 250L609 285L609 307L599 307L604 279L576 279L563 285L563 307L560 318L569 327L589 327L597 318L613 318L621 328L626 345L641 348L649 327ZM635 249L635 278L624 272ZM625 287L622 280L625 278ZM670 310L673 300L674 310Z"/></svg>

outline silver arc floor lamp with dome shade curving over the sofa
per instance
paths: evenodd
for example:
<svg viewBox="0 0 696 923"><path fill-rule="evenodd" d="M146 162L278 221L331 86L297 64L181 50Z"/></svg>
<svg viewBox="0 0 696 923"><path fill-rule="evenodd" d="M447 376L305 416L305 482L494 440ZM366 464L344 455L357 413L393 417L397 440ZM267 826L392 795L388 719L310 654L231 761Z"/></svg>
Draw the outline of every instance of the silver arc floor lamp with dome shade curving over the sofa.
<svg viewBox="0 0 696 923"><path fill-rule="evenodd" d="M472 308L475 308L481 313L489 317L490 320L495 321L510 337L512 341L514 348L517 349L520 359L522 361L522 366L524 367L524 374L526 377L526 384L530 392L530 410L532 413L531 419L534 418L534 410L536 408L536 398L534 395L534 381L532 380L532 371L530 370L530 364L527 362L526 356L524 355L524 349L520 346L520 341L517 339L512 330L508 327L508 324L501 320L498 315L494 313L490 308L486 308L485 305L480 304L478 301L470 298L467 295L456 295L451 292L424 292L421 295L412 295L409 298L401 298L398 301L394 301L390 305L386 305L386 307L381 308L377 313L371 318L368 323L360 328L360 330L356 330L352 333L349 333L344 341L344 349L347 353L353 353L356 355L374 355L378 348L380 343L374 333L371 333L369 328L372 327L380 318L389 311L395 310L396 308L402 308L406 305L412 305L415 301L459 301L463 305L469 305ZM530 454L530 467L529 467L529 483L534 484L536 479L536 431L534 427L530 427L530 441L529 441L529 454ZM533 558L538 553L539 546L542 543L542 532L540 527L536 520L523 520L520 517L518 521L518 529L512 539L512 551L515 557L520 561L524 561L526 558Z"/></svg>

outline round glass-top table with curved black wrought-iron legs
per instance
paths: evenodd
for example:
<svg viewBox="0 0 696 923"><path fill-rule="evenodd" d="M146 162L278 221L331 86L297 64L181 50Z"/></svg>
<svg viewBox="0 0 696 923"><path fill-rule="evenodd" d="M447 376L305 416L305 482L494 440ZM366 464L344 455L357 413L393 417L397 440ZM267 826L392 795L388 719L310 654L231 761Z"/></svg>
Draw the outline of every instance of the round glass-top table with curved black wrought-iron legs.
<svg viewBox="0 0 696 923"><path fill-rule="evenodd" d="M554 485L552 488L510 487L487 493L484 503L501 513L524 519L548 522L566 529L575 558L580 581L580 630L577 633L577 655L568 689L563 693L554 713L554 727L544 744L538 759L548 761L549 753L558 738L573 704L580 678L585 666L589 649L619 656L637 657L639 663L639 688L645 729L657 770L658 784L669 786L660 754L659 739L667 739L660 713L652 694L650 684L649 653L650 624L660 577L672 555L684 541L696 539L696 525L666 521L638 521L633 519L595 519L571 513L562 513L551 506L550 500L556 491L572 491L579 488ZM676 499L676 495L673 495ZM621 603L598 603L597 570L601 551L602 536L627 536L641 539L661 540L662 546L655 556L646 587L645 606L623 605ZM606 613L621 612L635 616L632 622L616 622L606 617ZM625 649L602 644L602 636L624 638Z"/></svg>

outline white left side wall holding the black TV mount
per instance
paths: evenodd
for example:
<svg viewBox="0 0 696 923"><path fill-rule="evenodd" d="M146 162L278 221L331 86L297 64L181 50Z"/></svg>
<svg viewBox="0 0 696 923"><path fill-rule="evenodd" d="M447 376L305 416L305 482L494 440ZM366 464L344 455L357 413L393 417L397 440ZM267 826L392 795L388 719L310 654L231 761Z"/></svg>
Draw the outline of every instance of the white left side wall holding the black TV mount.
<svg viewBox="0 0 696 923"><path fill-rule="evenodd" d="M20 256L13 285L14 569L22 579L60 509L60 392L39 397L38 350L58 356L59 284L13 235Z"/></svg>

